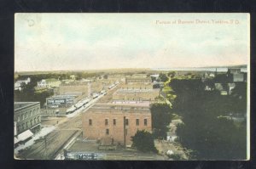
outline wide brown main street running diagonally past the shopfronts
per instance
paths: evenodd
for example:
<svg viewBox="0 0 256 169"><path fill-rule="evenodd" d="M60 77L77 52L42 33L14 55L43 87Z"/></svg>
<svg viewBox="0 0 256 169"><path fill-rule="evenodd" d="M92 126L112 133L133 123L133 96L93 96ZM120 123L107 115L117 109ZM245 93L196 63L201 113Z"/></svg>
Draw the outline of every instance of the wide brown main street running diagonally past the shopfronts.
<svg viewBox="0 0 256 169"><path fill-rule="evenodd" d="M112 88L104 96L91 101L88 107L81 108L80 112L86 112L90 107L98 102L106 103L111 100L113 93L119 88L119 86ZM44 138L39 139L36 143L27 149L22 149L19 155L16 155L20 159L35 159L46 160L55 159L55 156L61 153L65 145L82 129L82 113L77 113L67 121L57 125L53 132L50 132Z"/></svg>

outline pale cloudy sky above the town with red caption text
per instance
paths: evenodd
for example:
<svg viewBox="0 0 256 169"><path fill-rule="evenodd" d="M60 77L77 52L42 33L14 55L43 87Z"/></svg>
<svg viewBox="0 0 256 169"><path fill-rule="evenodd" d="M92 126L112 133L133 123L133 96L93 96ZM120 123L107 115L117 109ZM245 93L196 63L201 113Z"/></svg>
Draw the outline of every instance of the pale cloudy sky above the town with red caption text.
<svg viewBox="0 0 256 169"><path fill-rule="evenodd" d="M15 14L15 70L247 64L247 20L247 14Z"/></svg>

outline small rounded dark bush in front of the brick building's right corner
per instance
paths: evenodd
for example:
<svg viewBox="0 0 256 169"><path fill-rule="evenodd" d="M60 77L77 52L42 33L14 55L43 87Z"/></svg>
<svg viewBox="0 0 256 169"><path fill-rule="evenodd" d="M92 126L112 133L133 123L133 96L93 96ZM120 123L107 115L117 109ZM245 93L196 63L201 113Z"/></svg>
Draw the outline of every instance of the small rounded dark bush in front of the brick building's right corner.
<svg viewBox="0 0 256 169"><path fill-rule="evenodd" d="M131 137L132 146L143 152L157 152L154 147L154 137L150 132L145 130L138 130L134 136Z"/></svg>

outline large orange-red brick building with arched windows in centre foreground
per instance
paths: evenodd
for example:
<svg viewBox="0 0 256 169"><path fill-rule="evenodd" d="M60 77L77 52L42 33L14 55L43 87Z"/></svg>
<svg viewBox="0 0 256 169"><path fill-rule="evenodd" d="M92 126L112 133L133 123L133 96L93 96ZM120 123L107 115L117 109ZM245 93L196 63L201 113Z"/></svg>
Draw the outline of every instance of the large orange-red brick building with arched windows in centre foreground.
<svg viewBox="0 0 256 169"><path fill-rule="evenodd" d="M149 107L140 104L95 104L82 121L84 138L111 138L114 144L131 145L137 130L152 131Z"/></svg>

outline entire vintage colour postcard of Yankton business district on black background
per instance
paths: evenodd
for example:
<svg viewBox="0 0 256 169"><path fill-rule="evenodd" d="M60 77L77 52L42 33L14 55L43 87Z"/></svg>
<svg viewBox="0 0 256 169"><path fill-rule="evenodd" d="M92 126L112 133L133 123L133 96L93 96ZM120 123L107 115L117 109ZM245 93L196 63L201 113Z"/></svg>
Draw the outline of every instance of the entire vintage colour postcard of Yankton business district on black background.
<svg viewBox="0 0 256 169"><path fill-rule="evenodd" d="M249 14L15 14L16 160L250 159Z"/></svg>

